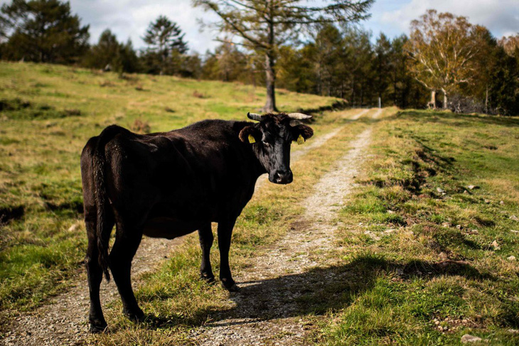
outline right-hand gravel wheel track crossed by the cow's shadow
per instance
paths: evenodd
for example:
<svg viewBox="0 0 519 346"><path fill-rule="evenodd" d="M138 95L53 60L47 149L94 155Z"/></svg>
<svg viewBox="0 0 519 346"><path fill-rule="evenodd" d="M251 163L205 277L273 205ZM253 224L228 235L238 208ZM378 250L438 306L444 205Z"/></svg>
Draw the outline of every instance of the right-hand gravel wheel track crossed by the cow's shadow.
<svg viewBox="0 0 519 346"><path fill-rule="evenodd" d="M376 114L380 115L380 112ZM320 253L333 246L334 218L351 192L371 129L351 142L351 150L315 186L299 227L266 255L253 259L238 278L242 290L231 297L228 311L213 316L191 335L199 345L305 345L308 328L300 318L297 298L319 291L319 278L307 273L329 266ZM321 282L322 285L322 282Z"/></svg>

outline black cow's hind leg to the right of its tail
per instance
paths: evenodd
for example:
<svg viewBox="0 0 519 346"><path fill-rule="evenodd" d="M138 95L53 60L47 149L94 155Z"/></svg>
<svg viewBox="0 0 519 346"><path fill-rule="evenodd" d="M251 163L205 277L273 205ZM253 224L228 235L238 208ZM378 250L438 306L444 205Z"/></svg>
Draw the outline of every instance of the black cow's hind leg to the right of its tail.
<svg viewBox="0 0 519 346"><path fill-rule="evenodd" d="M123 313L130 320L141 320L144 316L132 290L132 259L141 243L142 231L134 227L117 225L117 236L110 252L110 269L121 296Z"/></svg>

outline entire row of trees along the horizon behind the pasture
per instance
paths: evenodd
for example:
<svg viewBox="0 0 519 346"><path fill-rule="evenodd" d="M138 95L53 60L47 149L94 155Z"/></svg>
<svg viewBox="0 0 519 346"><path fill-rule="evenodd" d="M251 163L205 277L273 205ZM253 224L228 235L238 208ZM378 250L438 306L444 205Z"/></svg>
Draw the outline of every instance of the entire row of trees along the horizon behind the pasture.
<svg viewBox="0 0 519 346"><path fill-rule="evenodd" d="M266 85L264 56L230 40L203 57L188 54L181 28L165 16L142 33L146 48L107 29L89 45L89 26L59 0L1 7L0 58ZM429 10L410 35L375 40L346 23L317 23L304 42L273 45L276 87L346 99L353 107L443 107L519 114L519 35L497 40L464 17ZM374 42L373 42L374 41ZM267 73L268 75L268 73Z"/></svg>

